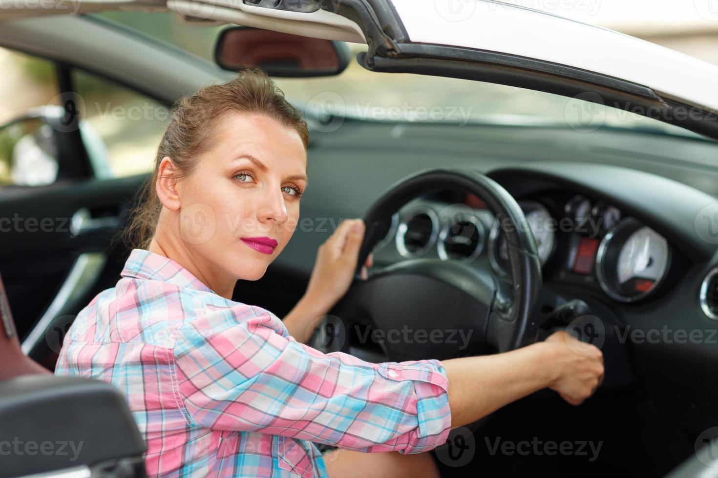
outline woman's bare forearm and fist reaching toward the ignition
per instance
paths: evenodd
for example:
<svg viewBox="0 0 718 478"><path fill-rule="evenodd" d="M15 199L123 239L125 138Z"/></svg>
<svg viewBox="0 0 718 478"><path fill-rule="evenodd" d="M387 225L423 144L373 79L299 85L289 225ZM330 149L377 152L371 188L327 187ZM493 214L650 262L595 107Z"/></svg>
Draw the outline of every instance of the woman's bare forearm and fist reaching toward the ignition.
<svg viewBox="0 0 718 478"><path fill-rule="evenodd" d="M497 355L443 360L452 428L470 424L542 388L579 405L603 380L603 355L565 332Z"/></svg>

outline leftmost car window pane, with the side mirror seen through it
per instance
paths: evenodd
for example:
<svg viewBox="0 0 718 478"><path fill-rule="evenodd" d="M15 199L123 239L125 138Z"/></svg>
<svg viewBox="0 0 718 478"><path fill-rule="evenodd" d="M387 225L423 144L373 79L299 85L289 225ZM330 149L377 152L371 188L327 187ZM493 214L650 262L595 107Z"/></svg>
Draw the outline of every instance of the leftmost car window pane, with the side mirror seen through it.
<svg viewBox="0 0 718 478"><path fill-rule="evenodd" d="M57 150L49 124L37 118L60 107L55 64L0 48L0 186L46 186L57 178Z"/></svg>

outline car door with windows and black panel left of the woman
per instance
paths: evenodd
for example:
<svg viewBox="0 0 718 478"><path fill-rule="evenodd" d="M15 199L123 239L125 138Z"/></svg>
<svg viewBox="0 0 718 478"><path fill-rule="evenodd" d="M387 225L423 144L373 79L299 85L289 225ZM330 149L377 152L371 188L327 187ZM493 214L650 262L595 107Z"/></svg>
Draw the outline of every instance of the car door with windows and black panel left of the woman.
<svg viewBox="0 0 718 478"><path fill-rule="evenodd" d="M0 188L0 270L19 337L26 353L52 368L74 316L116 282L127 253L120 231L154 164L169 105L79 68L6 52L20 71L6 94L30 85L38 92L26 96L38 104L17 100L0 138L31 116L65 118L45 125L60 138L55 176L32 178L52 168L31 164L23 177L32 150L23 156L13 143Z"/></svg>

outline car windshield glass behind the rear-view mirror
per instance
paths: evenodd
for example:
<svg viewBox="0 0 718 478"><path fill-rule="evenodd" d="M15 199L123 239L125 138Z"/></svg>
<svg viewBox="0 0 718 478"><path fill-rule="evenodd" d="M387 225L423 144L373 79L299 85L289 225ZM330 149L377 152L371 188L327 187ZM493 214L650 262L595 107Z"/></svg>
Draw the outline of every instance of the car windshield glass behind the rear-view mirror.
<svg viewBox="0 0 718 478"><path fill-rule="evenodd" d="M227 28L192 24L173 12L106 11L95 16L125 24L210 62L215 39ZM348 47L354 57L366 50L361 44ZM335 77L276 77L274 82L294 105L320 121L341 115L393 123L537 125L579 131L622 128L702 138L677 126L586 101L600 101L590 93L569 98L473 80L370 72L355 60Z"/></svg>

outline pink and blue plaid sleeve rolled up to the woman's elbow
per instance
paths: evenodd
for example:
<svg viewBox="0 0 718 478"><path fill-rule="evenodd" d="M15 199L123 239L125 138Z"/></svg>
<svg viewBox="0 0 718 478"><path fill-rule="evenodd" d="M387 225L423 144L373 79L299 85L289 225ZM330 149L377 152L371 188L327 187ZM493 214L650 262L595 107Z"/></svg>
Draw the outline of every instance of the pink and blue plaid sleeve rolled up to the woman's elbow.
<svg viewBox="0 0 718 478"><path fill-rule="evenodd" d="M177 331L178 399L197 426L358 451L418 453L446 441L451 413L438 360L376 364L321 353L278 332L276 315L248 308Z"/></svg>

